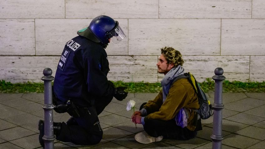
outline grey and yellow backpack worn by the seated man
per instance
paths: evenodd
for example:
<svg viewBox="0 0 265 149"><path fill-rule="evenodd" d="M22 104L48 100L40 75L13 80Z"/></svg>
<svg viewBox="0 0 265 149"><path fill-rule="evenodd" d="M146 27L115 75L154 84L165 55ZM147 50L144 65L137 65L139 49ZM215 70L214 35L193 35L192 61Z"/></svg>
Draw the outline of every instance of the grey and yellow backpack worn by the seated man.
<svg viewBox="0 0 265 149"><path fill-rule="evenodd" d="M198 96L200 108L198 110L196 109L194 111L197 112L199 114L200 118L202 118L202 119L207 119L210 116L212 116L212 108L211 108L212 105L210 104L210 101L206 97L206 95L203 92L202 88L200 87L199 83L197 83L196 79L194 78L194 76L190 72L184 73L184 75L180 75L180 76L176 77L171 84L173 84L174 82L176 82L178 79L181 79L181 78L187 78L189 80L189 82L192 84L192 87ZM199 119L199 117L198 117L198 119Z"/></svg>

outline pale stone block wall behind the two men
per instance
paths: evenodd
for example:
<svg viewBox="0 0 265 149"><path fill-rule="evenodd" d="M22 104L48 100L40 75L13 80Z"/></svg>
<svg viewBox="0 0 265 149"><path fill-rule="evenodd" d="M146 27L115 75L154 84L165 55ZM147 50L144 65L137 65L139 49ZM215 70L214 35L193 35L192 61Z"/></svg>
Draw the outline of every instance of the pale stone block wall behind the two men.
<svg viewBox="0 0 265 149"><path fill-rule="evenodd" d="M160 82L160 48L179 50L199 82L224 69L229 81L265 80L264 0L0 0L0 80L53 76L64 44L99 15L128 38L110 43L108 79Z"/></svg>

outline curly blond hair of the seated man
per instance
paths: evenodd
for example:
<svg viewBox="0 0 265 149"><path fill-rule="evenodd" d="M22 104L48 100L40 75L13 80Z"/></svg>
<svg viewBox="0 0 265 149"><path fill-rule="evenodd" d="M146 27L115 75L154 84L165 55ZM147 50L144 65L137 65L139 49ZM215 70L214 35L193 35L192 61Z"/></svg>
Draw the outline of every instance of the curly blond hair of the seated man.
<svg viewBox="0 0 265 149"><path fill-rule="evenodd" d="M163 54L168 63L173 63L174 67L182 66L184 63L181 53L173 47L161 48L161 54Z"/></svg>

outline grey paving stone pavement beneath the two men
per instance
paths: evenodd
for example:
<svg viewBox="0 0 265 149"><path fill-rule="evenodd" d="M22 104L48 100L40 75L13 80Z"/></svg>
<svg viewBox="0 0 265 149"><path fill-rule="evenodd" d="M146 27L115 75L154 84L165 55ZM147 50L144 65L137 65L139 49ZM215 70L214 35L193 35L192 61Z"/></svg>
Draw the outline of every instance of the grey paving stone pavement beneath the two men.
<svg viewBox="0 0 265 149"><path fill-rule="evenodd" d="M167 140L141 144L134 140L135 134L143 131L142 125L131 122L133 111L126 110L129 100L136 102L136 108L152 100L157 93L129 93L123 101L113 101L99 115L103 128L103 139L97 145L80 146L73 143L54 141L55 148L212 148L213 117L202 120L203 130L188 141ZM211 103L214 92L207 93ZM222 140L223 149L247 148L265 149L265 93L223 93ZM43 93L0 93L0 149L42 148L38 142L37 123L44 119ZM53 111L54 122L66 122L67 113Z"/></svg>

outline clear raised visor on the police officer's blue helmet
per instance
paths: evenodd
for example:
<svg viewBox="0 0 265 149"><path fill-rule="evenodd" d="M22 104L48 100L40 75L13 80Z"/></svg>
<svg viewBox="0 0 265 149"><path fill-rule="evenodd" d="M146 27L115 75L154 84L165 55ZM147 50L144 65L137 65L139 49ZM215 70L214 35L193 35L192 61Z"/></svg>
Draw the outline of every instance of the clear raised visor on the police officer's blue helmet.
<svg viewBox="0 0 265 149"><path fill-rule="evenodd" d="M113 31L108 33L108 37L111 38L113 43L119 43L123 39L126 39L126 35L123 32L123 29L118 25Z"/></svg>

